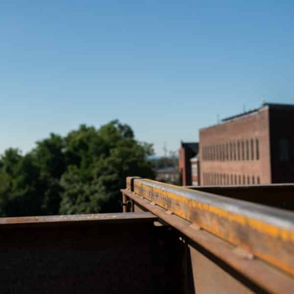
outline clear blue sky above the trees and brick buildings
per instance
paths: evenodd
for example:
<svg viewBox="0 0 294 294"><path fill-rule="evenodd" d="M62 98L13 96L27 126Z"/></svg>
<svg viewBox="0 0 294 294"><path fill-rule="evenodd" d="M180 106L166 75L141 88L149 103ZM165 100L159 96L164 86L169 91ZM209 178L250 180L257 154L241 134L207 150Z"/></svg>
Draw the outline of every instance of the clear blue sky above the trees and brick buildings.
<svg viewBox="0 0 294 294"><path fill-rule="evenodd" d="M119 119L162 155L294 103L293 33L294 1L1 1L0 153Z"/></svg>

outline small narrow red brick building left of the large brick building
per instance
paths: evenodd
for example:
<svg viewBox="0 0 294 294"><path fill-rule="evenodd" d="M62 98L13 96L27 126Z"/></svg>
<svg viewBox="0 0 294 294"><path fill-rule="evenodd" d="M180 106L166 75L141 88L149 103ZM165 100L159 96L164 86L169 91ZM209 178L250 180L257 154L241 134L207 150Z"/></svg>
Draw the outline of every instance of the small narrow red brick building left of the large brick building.
<svg viewBox="0 0 294 294"><path fill-rule="evenodd" d="M180 184L183 186L192 185L192 172L190 159L198 153L198 143L181 141L179 149L179 172Z"/></svg>

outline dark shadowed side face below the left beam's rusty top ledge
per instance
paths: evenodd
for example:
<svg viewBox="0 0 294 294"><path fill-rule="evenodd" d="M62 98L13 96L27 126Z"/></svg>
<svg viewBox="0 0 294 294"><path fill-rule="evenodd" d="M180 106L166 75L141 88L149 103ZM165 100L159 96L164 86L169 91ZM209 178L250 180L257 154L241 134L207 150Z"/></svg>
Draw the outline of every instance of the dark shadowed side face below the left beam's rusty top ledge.
<svg viewBox="0 0 294 294"><path fill-rule="evenodd" d="M1 294L154 293L153 220L60 224L0 230Z"/></svg>

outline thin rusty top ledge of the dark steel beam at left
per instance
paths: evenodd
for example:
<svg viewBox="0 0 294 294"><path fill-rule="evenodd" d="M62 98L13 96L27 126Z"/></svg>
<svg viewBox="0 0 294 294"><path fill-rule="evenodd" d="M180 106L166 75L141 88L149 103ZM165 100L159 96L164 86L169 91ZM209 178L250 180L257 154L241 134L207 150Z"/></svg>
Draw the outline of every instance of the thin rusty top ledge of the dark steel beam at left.
<svg viewBox="0 0 294 294"><path fill-rule="evenodd" d="M75 224L111 224L111 223L142 223L156 221L157 217L149 212L144 213L105 213L61 216L39 216L0 218L0 229L15 227L60 226Z"/></svg>

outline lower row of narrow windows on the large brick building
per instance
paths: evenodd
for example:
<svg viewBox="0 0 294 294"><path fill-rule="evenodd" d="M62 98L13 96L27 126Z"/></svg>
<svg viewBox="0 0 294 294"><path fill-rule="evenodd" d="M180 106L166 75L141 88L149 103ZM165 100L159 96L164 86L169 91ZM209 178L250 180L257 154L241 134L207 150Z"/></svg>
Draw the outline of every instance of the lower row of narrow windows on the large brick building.
<svg viewBox="0 0 294 294"><path fill-rule="evenodd" d="M203 185L254 185L260 184L260 178L254 175L238 175L215 172L203 173Z"/></svg>

